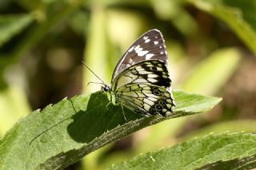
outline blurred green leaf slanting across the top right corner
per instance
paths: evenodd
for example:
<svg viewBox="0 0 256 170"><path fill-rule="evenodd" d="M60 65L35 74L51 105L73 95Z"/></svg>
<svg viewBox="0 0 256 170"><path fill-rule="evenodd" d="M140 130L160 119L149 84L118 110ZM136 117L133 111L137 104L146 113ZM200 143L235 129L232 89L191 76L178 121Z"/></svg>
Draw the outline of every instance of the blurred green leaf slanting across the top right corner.
<svg viewBox="0 0 256 170"><path fill-rule="evenodd" d="M239 7L230 7L231 4L235 4L234 1L223 1L227 4L230 3L228 6L222 4L222 1L187 0L187 2L190 2L192 5L198 7L198 9L204 10L214 15L214 17L219 18L222 22L225 22L226 25L230 26L230 29L238 35L238 38L240 38L254 54L256 53L255 22L252 20L252 18L255 18L255 8L253 7L255 6L255 1L239 1L239 3L243 5L252 6L251 8L247 7L246 10L244 6L239 5ZM238 4L238 1L235 2ZM247 11L247 13L245 13L245 11ZM244 17L244 13L246 17ZM250 14L250 18L248 13Z"/></svg>

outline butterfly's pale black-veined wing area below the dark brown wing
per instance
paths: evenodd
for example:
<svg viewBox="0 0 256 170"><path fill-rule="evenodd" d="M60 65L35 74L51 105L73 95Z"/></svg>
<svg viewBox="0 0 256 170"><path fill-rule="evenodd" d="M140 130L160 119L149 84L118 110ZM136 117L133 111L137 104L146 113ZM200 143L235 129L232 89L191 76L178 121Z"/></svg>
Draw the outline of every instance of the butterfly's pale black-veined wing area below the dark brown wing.
<svg viewBox="0 0 256 170"><path fill-rule="evenodd" d="M165 62L147 60L125 69L114 80L111 90L116 102L146 115L172 113L174 100Z"/></svg>

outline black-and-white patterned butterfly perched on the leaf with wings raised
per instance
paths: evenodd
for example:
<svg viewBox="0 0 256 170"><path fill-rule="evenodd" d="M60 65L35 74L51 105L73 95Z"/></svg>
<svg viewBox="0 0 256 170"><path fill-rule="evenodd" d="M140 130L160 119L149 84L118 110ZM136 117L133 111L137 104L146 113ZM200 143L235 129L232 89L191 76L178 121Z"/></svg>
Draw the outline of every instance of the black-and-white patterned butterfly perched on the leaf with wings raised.
<svg viewBox="0 0 256 170"><path fill-rule="evenodd" d="M166 68L166 45L159 30L149 30L118 61L111 85L102 91L114 105L124 105L145 116L173 113L174 97Z"/></svg>

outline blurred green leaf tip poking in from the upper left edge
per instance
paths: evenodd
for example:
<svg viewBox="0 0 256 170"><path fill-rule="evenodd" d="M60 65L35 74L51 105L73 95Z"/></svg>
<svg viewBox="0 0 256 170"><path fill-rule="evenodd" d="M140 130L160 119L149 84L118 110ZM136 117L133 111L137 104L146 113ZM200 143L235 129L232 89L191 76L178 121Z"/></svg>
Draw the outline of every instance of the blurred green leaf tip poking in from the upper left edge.
<svg viewBox="0 0 256 170"><path fill-rule="evenodd" d="M32 21L31 14L0 15L0 46L24 30Z"/></svg>

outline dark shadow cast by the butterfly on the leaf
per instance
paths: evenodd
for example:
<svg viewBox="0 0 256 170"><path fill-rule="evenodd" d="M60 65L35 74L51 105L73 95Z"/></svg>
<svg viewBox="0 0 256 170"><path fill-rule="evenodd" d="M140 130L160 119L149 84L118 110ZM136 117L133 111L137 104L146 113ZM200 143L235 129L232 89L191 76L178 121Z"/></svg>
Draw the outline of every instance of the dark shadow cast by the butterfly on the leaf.
<svg viewBox="0 0 256 170"><path fill-rule="evenodd" d="M90 143L104 132L110 131L118 125L126 123L121 106L110 105L106 109L108 99L103 93L94 93L90 96L86 111L79 110L73 117L74 121L68 125L70 136L79 143ZM128 121L134 121L142 115L124 108Z"/></svg>

